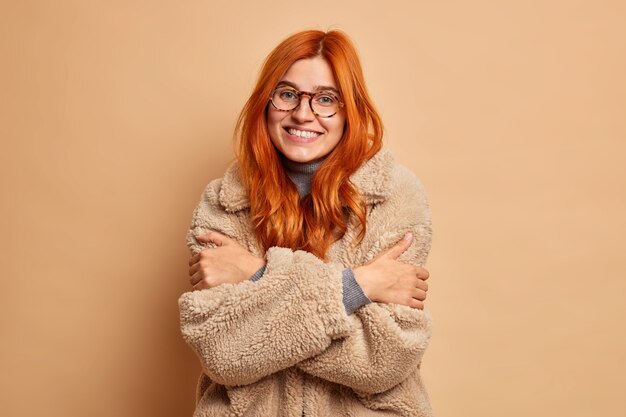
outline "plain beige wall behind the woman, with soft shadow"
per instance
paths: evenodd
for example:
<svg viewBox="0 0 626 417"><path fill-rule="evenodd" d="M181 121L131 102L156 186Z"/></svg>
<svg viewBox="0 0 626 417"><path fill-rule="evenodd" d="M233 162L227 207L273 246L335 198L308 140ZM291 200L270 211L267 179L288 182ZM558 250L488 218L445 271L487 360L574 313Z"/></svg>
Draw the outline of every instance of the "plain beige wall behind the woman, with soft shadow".
<svg viewBox="0 0 626 417"><path fill-rule="evenodd" d="M191 211L305 28L428 190L436 415L624 415L623 1L0 4L0 415L191 415Z"/></svg>

